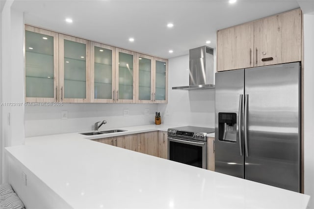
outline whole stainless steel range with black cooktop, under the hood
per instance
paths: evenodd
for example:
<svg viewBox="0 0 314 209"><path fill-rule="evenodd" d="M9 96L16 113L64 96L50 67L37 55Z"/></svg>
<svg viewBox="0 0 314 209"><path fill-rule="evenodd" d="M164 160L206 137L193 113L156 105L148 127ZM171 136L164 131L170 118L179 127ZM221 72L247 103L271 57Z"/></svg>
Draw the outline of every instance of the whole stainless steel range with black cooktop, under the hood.
<svg viewBox="0 0 314 209"><path fill-rule="evenodd" d="M168 129L168 159L207 169L207 133L214 129L184 126Z"/></svg>

